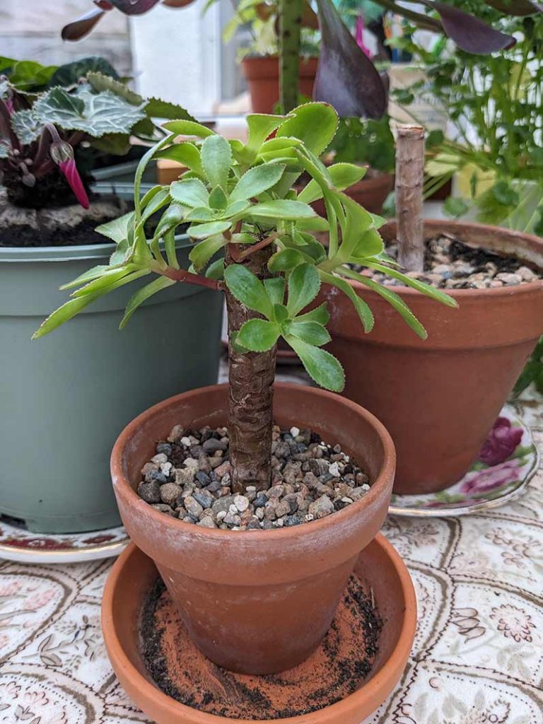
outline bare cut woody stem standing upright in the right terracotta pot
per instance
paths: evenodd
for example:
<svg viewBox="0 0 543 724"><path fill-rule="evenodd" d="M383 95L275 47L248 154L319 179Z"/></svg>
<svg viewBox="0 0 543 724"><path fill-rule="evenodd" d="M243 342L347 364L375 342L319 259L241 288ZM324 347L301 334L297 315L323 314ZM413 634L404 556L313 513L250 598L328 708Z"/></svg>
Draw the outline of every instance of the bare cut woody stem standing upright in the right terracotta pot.
<svg viewBox="0 0 543 724"><path fill-rule="evenodd" d="M424 128L398 125L396 140L396 219L398 262L424 271Z"/></svg>

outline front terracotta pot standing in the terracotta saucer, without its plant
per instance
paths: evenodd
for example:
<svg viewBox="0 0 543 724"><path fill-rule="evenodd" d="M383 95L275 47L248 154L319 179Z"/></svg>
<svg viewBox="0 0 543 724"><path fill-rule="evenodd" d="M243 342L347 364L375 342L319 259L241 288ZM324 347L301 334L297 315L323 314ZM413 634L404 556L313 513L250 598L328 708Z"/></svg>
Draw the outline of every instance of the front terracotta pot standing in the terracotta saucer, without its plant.
<svg viewBox="0 0 543 724"><path fill-rule="evenodd" d="M330 392L278 384L277 424L311 428L339 442L372 485L359 502L311 524L274 531L205 529L170 518L134 488L156 441L175 424L222 426L227 385L202 387L155 405L120 435L111 474L130 537L159 569L195 644L224 668L253 674L290 668L329 628L358 554L381 527L395 451L382 424Z"/></svg>

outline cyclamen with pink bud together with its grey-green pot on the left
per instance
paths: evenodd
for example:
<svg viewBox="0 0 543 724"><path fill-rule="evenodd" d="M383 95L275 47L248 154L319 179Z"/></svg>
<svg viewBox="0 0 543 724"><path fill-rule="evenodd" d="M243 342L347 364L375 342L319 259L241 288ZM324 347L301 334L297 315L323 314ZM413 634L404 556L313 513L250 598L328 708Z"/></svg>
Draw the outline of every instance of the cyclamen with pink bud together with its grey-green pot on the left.
<svg viewBox="0 0 543 724"><path fill-rule="evenodd" d="M188 114L140 98L105 75L109 69L98 59L56 69L30 62L9 67L9 78L0 83L0 325L6 340L0 395L9 421L1 442L0 512L37 532L99 530L119 523L107 483L111 436L157 395L214 382L220 303L206 290L171 290L162 303L146 307L138 333L119 340L111 334L111 312L130 296L119 289L85 314L85 334L83 327L67 328L56 345L37 350L29 328L54 303L54 287L67 271L80 273L89 259L108 264L119 231L104 235L95 227L130 211L118 195L94 193L88 172L80 174L77 164L94 146L129 148L131 133L147 142L160 138L164 133L151 119L156 112ZM178 243L186 255L186 238ZM190 334L190 349L182 340L167 340L172 303L173 323ZM202 327L204 309L209 324ZM179 360L175 367L171 355ZM156 376L148 380L143 370L151 362ZM43 460L49 461L46 476Z"/></svg>

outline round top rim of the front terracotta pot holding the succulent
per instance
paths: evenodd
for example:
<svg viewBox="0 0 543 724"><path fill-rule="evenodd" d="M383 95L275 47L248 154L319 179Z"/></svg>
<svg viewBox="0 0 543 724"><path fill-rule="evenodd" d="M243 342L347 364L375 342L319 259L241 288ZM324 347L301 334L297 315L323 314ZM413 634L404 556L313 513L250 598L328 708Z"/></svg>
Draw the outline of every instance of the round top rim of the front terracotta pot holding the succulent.
<svg viewBox="0 0 543 724"><path fill-rule="evenodd" d="M311 523L303 523L300 526L278 528L270 531L230 531L205 528L203 526L193 526L190 523L184 523L183 521L180 521L179 518L172 518L170 515L164 515L164 513L161 513L159 510L154 510L153 508L151 508L151 505L148 505L148 503L141 500L141 498L135 492L135 489L126 479L125 472L122 466L122 460L123 452L127 447L127 442L138 431L139 426L143 424L144 421L146 421L149 417L153 416L155 413L158 413L162 408L173 405L177 402L177 400L180 399L184 400L184 402L187 403L187 401L190 400L190 397L198 397L198 395L201 395L201 393L204 391L216 392L227 387L227 383L214 384L207 387L197 387L195 390L190 390L189 392L182 392L180 395L173 395L172 397L168 397L166 400L162 400L160 403L153 405L151 408L148 408L147 410L140 413L138 417L134 418L129 424L127 424L127 426L121 432L121 434L117 438L117 441L115 442L113 450L111 451L111 479L113 480L113 486L122 487L123 489L125 489L125 494L127 494L129 500L132 499L135 505L138 505L142 508L142 511L145 513L145 515L151 516L151 518L154 518L157 523L161 523L162 526L167 528L169 528L170 526L174 528L179 528L179 526L182 526L182 529L184 531L193 532L196 532L194 531L194 528L197 527L198 536L203 536L207 539L230 539L234 541L236 539L243 538L245 541L262 540L263 543L271 542L272 540L286 541L290 539L291 542L294 542L296 539L303 537L307 533L318 533L319 531L326 531L327 529L332 528L338 521L343 521L347 518L355 517L356 515L358 515L358 512L361 510L361 508L369 507L375 500L377 500L379 494L382 493L382 489L385 489L387 487L388 481L390 481L390 479L394 476L396 466L396 452L394 442L392 442L392 437L390 437L389 432L384 427L382 422L380 422L376 418L376 416L372 415L361 405L354 403L352 400L348 400L347 397L342 397L341 395L337 395L334 392L321 390L317 387L303 387L303 390L307 392L308 395L316 395L318 397L321 397L322 399L337 399L338 403L340 403L341 405L345 405L345 407L349 408L349 410L353 413L355 412L358 416L362 416L363 418L365 418L366 421L368 421L369 424L374 427L377 434L379 435L379 439L381 440L383 446L383 464L379 470L379 475L376 477L375 481L371 484L369 491L366 493L366 495L364 495L361 500L354 502L352 505L348 505L346 508L342 508L342 510L336 510L331 515L328 515L326 518L321 518L321 520L319 521L311 521ZM276 389L296 390L297 392L299 392L301 386L299 384L277 382L275 384L275 387ZM143 506L145 507L143 508ZM341 516L341 518L339 518L339 516Z"/></svg>

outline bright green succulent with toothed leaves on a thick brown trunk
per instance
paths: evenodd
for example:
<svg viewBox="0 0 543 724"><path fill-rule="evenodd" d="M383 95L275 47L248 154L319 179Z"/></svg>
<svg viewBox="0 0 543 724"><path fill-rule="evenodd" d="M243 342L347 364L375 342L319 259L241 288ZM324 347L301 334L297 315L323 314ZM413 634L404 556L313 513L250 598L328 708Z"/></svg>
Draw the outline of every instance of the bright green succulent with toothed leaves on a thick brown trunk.
<svg viewBox="0 0 543 724"><path fill-rule="evenodd" d="M321 282L348 295L366 332L374 317L348 279L384 297L416 334L426 336L395 292L348 264L384 271L455 306L445 293L401 274L384 253L378 231L383 219L342 193L361 179L364 169L346 163L325 167L319 160L337 128L331 106L306 104L286 116L253 114L247 122L246 144L226 140L195 122L164 124L170 135L140 161L135 211L98 227L117 243L109 266L96 266L65 285L80 288L34 335L42 337L107 292L148 274L156 274L156 279L132 296L121 327L141 303L176 282L224 291L230 339L230 462L238 492L248 485L262 489L270 484L279 337L298 353L317 384L342 390L342 367L322 349L330 340L327 305L310 308ZM178 135L197 140L175 143ZM157 185L140 198L143 170L156 157L181 160L188 171L169 187ZM292 187L303 172L311 181L297 193ZM326 219L310 206L323 197ZM148 240L144 224L159 209L161 220ZM175 251L175 232L182 224L190 224L187 232L195 240L189 269L180 269ZM328 232L327 247L315 231Z"/></svg>

